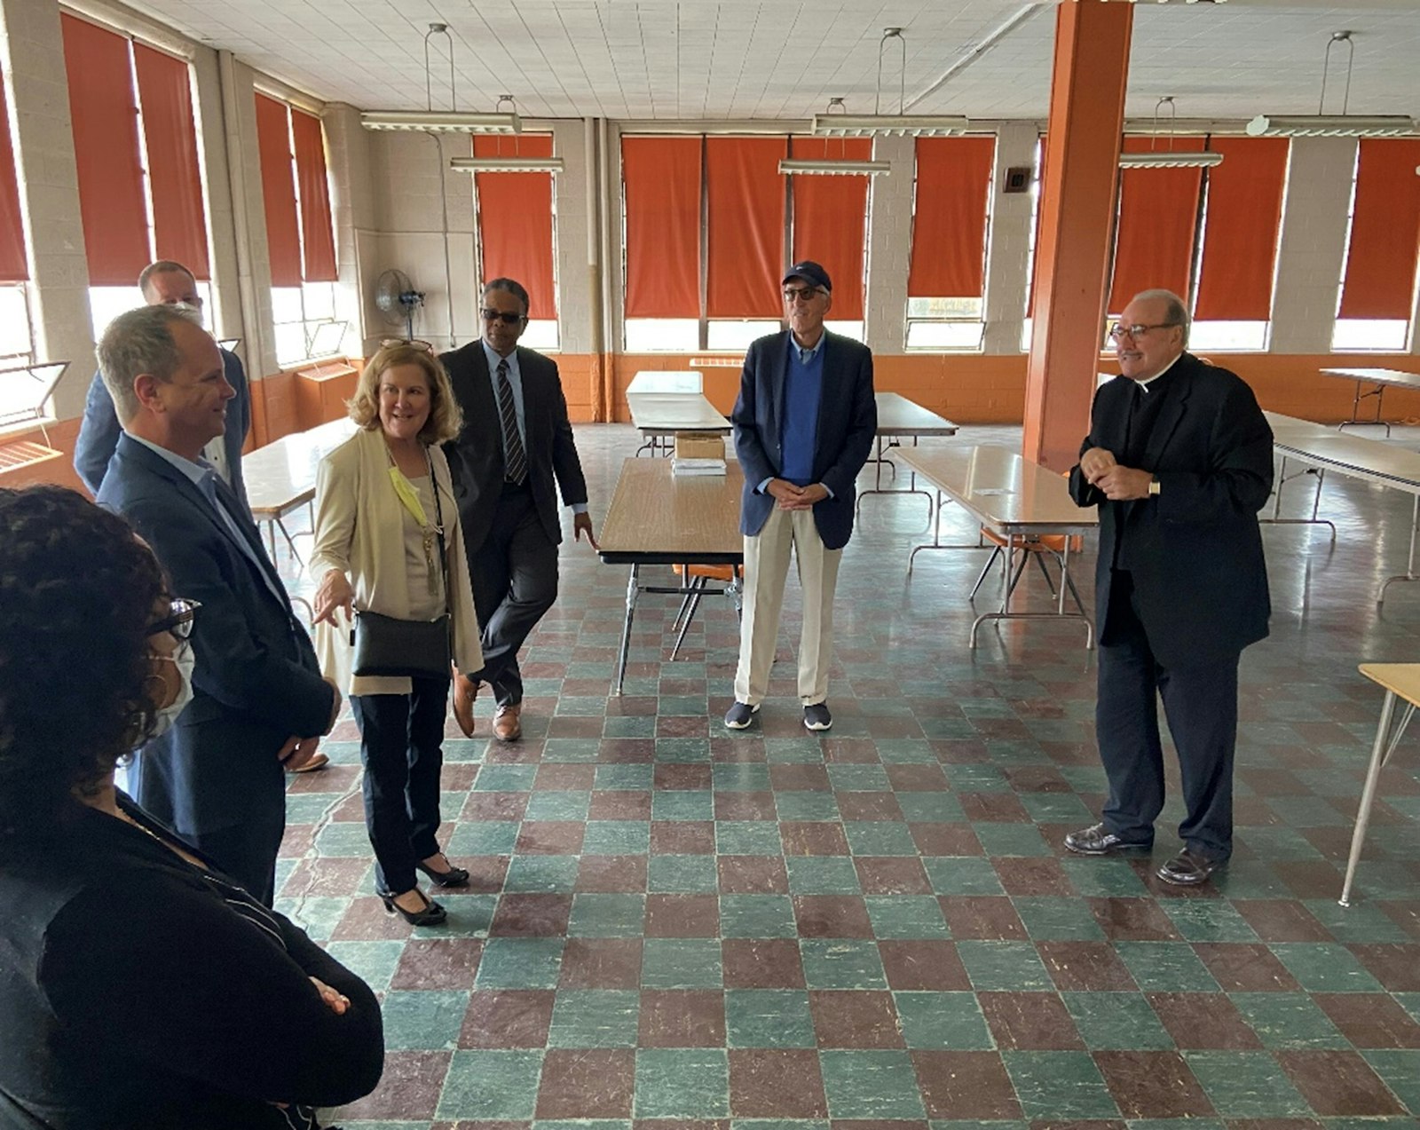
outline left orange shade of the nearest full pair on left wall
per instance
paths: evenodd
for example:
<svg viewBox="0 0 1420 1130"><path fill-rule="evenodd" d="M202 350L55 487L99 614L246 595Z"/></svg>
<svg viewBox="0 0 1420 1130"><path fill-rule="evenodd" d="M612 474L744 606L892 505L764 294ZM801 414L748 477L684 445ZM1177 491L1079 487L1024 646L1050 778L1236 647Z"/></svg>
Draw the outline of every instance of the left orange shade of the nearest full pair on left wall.
<svg viewBox="0 0 1420 1130"><path fill-rule="evenodd" d="M89 285L131 287L151 248L128 40L68 13L60 23Z"/></svg>

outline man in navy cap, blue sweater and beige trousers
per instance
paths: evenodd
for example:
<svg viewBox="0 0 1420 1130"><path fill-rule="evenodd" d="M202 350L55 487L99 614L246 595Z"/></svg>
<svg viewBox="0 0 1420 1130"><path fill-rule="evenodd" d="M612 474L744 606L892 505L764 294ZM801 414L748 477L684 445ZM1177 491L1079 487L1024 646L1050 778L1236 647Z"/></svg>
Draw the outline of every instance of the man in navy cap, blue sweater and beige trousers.
<svg viewBox="0 0 1420 1130"><path fill-rule="evenodd" d="M791 549L804 586L798 670L804 725L834 724L828 710L834 589L853 532L853 484L872 451L878 405L872 352L824 328L832 291L816 263L790 268L784 277L790 329L750 345L730 416L744 468L744 618L734 706L724 715L731 730L750 724L770 690Z"/></svg>

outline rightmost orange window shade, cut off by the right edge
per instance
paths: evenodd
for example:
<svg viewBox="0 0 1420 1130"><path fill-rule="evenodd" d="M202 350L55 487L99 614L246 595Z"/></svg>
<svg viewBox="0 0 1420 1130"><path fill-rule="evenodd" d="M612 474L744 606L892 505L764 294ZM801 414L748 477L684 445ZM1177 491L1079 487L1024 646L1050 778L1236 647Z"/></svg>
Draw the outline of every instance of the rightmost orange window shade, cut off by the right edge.
<svg viewBox="0 0 1420 1130"><path fill-rule="evenodd" d="M1420 246L1420 141L1362 138L1340 318L1409 321Z"/></svg>

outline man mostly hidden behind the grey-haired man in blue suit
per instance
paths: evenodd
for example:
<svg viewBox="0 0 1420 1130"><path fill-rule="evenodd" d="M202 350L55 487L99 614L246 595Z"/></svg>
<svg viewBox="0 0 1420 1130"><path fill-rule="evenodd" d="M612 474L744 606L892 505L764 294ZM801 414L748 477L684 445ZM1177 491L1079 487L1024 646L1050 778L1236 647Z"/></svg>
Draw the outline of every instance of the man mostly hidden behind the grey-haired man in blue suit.
<svg viewBox="0 0 1420 1130"><path fill-rule="evenodd" d="M160 258L143 267L142 274L138 275L138 290L151 307L182 302L193 309L202 309L197 280L192 271L170 258ZM241 358L222 349L222 371L234 393L231 403L227 405L227 430L213 440L203 454L246 508L247 487L241 481L241 447L251 427L251 395L247 389L247 375L241 368ZM118 413L114 410L114 397L104 388L104 375L94 373L88 399L84 402L80 437L74 444L74 470L80 473L84 486L94 495L98 495L98 488L104 483L104 473L108 470L109 460L114 459L114 449L118 447L121 432Z"/></svg>

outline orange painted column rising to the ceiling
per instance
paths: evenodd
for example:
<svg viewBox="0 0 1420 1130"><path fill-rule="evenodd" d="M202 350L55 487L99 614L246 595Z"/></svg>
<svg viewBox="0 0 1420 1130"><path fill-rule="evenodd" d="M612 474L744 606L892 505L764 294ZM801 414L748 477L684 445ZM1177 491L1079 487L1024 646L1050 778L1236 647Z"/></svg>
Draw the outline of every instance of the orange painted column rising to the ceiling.
<svg viewBox="0 0 1420 1130"><path fill-rule="evenodd" d="M1119 183L1133 4L1066 0L1055 18L1022 454L1068 470L1089 430Z"/></svg>

